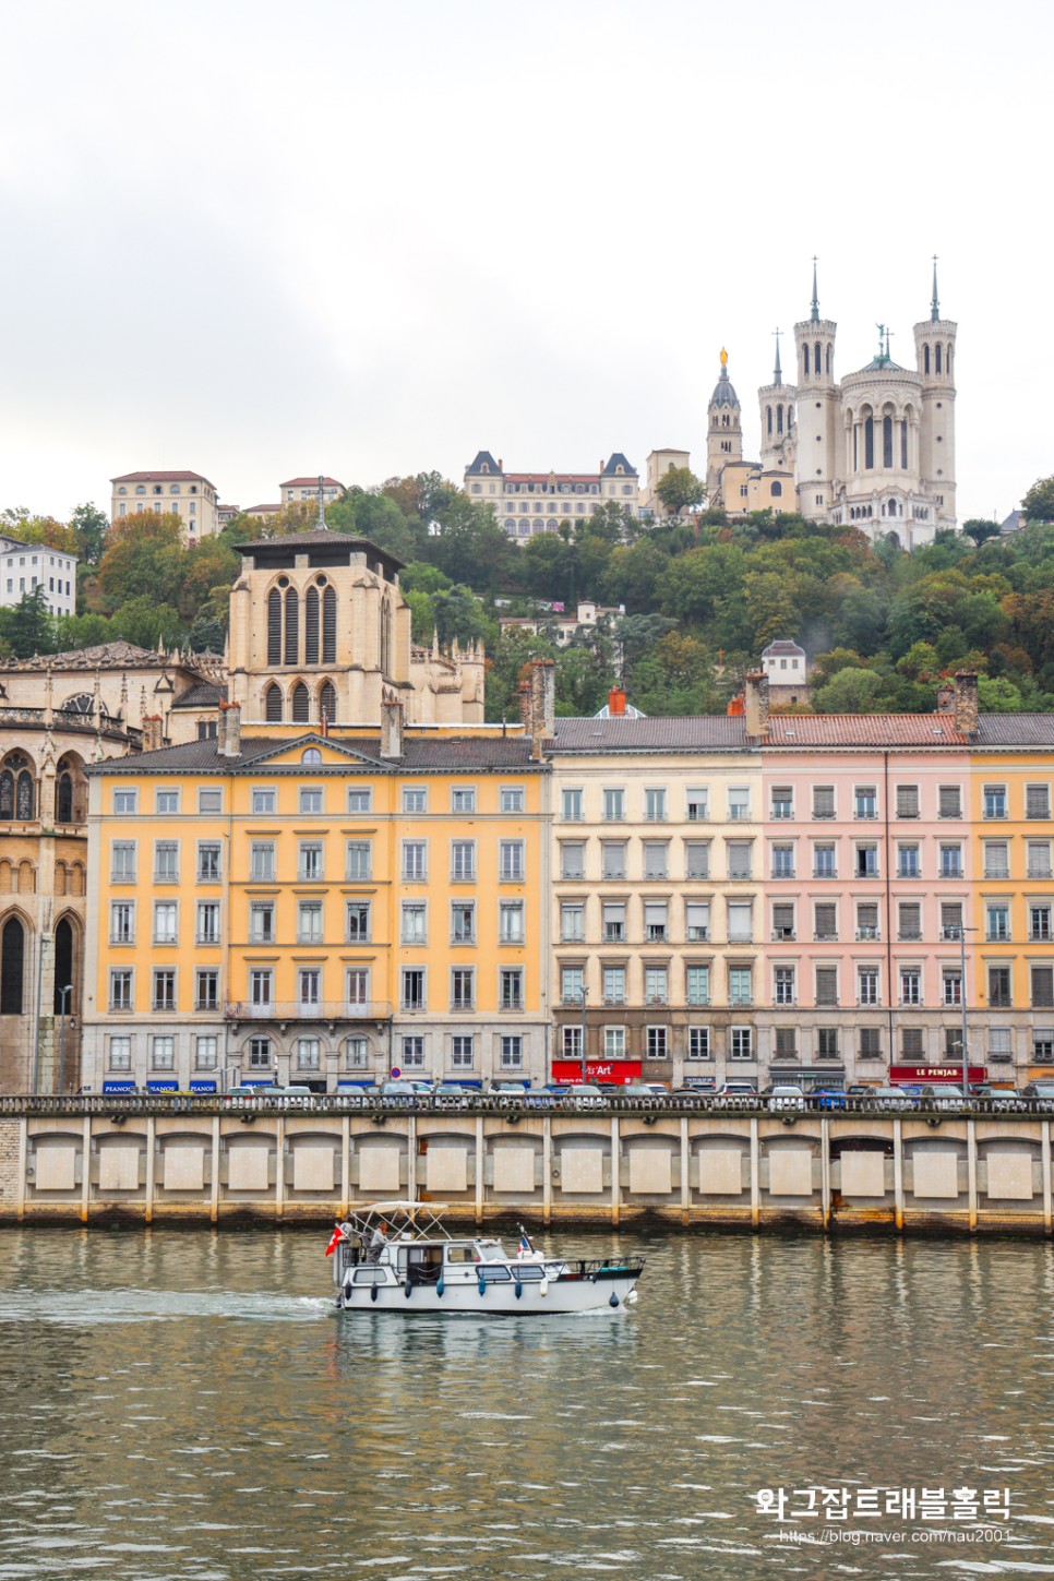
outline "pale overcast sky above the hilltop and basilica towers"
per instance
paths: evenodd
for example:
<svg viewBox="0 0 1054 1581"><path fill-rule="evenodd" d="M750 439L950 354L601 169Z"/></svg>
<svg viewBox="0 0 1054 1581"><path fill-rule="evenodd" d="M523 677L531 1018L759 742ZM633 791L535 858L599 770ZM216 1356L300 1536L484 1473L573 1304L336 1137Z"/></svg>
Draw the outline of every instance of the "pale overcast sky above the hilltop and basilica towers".
<svg viewBox="0 0 1054 1581"><path fill-rule="evenodd" d="M959 517L1054 473L1049 58L1032 0L0 5L0 508L115 473L224 501L477 449L705 465L722 345L913 365L940 255ZM784 367L793 368L789 343Z"/></svg>

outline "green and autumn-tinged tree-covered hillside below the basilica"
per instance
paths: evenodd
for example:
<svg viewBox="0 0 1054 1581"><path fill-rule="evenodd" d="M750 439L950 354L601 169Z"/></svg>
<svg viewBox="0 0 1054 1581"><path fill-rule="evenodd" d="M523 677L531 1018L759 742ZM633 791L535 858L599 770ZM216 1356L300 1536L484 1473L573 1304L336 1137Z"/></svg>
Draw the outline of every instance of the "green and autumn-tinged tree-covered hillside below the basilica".
<svg viewBox="0 0 1054 1581"><path fill-rule="evenodd" d="M1027 525L996 522L905 555L845 526L759 512L728 522L697 504L691 474L675 479L672 515L638 520L615 503L520 545L487 506L439 473L349 489L327 525L371 539L406 563L403 591L414 640L482 637L487 716L515 716L523 666L556 664L559 713L591 713L621 678L649 715L724 710L743 672L774 637L795 637L812 661L817 711L928 711L942 675L980 672L981 708L1054 708L1054 479L1024 498ZM237 517L183 549L174 515L144 512L112 526L93 506L68 523L0 512L0 530L81 557L77 613L52 620L43 594L0 610L0 653L28 655L125 637L142 647L223 647L235 545L303 531L314 504L265 522ZM556 642L561 607L583 599L613 610L596 631ZM503 617L525 617L503 631Z"/></svg>

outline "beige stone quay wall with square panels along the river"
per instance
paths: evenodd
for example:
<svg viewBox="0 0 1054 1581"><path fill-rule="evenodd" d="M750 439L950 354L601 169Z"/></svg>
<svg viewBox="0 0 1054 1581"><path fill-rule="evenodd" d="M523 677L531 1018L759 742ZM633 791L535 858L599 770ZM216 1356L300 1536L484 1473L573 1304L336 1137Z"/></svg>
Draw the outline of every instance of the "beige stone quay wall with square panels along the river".
<svg viewBox="0 0 1054 1581"><path fill-rule="evenodd" d="M1037 1113L8 1099L0 1224L322 1224L354 1202L419 1198L471 1224L651 1217L746 1230L1051 1235L1052 1124Z"/></svg>

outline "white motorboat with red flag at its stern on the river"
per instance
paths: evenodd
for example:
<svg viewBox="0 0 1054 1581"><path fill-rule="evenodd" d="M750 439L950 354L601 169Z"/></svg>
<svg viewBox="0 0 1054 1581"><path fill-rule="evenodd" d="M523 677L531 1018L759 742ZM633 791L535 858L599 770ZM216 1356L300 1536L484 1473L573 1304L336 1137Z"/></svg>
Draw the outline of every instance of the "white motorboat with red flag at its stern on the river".
<svg viewBox="0 0 1054 1581"><path fill-rule="evenodd" d="M446 1203L375 1202L338 1224L333 1257L341 1312L471 1312L476 1317L618 1311L637 1300L643 1257L556 1258L520 1230L515 1252L487 1235L450 1235Z"/></svg>

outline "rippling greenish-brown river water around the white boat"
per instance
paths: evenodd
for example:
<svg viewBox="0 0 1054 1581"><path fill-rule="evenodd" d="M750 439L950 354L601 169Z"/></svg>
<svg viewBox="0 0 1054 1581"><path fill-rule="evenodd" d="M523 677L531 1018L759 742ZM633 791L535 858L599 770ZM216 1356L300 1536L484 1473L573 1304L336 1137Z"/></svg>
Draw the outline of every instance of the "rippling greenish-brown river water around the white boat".
<svg viewBox="0 0 1054 1581"><path fill-rule="evenodd" d="M1048 1246L561 1232L635 1307L488 1322L337 1317L326 1240L0 1233L0 1581L1054 1576Z"/></svg>

